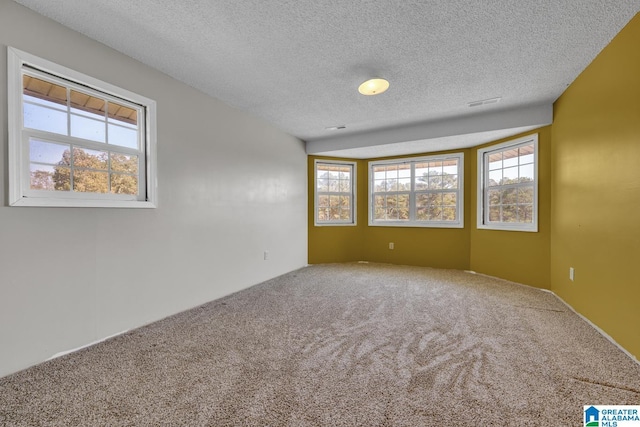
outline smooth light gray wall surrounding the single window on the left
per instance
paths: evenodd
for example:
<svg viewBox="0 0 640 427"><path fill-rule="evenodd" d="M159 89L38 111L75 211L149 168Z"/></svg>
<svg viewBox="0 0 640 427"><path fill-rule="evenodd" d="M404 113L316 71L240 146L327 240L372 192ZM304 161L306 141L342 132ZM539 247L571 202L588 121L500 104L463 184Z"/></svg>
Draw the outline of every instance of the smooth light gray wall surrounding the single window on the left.
<svg viewBox="0 0 640 427"><path fill-rule="evenodd" d="M157 209L7 207L6 46L156 100ZM0 50L0 376L306 264L302 142L9 0Z"/></svg>

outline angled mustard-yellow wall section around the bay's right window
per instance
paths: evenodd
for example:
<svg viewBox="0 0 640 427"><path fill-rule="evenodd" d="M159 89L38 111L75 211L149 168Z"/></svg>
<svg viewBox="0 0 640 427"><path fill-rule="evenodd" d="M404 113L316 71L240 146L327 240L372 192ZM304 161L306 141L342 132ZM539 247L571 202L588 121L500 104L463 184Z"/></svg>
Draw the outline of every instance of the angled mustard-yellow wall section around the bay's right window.
<svg viewBox="0 0 640 427"><path fill-rule="evenodd" d="M538 134L538 232L478 229L477 188L478 148L499 144L532 133ZM517 135L471 150L471 173L467 182L471 192L470 268L478 273L501 277L525 285L549 289L551 239L551 127Z"/></svg>

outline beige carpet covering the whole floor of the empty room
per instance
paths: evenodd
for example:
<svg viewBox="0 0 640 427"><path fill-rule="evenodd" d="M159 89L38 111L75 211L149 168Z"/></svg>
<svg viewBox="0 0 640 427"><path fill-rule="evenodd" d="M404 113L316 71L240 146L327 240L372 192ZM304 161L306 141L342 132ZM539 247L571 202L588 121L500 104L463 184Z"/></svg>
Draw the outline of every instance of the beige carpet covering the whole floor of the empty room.
<svg viewBox="0 0 640 427"><path fill-rule="evenodd" d="M380 264L304 268L0 379L2 426L577 426L586 404L640 404L640 365L553 295Z"/></svg>

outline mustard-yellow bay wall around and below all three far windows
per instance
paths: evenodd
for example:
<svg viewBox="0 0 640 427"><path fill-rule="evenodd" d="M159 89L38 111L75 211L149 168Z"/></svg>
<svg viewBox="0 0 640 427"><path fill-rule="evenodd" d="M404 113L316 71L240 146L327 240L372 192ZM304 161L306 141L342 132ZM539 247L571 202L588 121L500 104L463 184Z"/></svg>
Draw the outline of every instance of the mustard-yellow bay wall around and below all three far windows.
<svg viewBox="0 0 640 427"><path fill-rule="evenodd" d="M309 263L370 261L435 268L475 270L519 283L549 288L549 211L551 129L536 130L539 150L539 232L476 229L477 148L464 153L464 228L369 227L368 162L358 161L358 224L314 226L314 159L309 157ZM512 138L517 139L528 132ZM479 148L479 147L478 147ZM428 153L437 155L440 153ZM421 154L424 155L424 154ZM401 156L401 157L419 157ZM385 158L386 159L386 158ZM342 159L349 160L350 159ZM381 160L381 159L372 159ZM389 243L394 249L389 249Z"/></svg>

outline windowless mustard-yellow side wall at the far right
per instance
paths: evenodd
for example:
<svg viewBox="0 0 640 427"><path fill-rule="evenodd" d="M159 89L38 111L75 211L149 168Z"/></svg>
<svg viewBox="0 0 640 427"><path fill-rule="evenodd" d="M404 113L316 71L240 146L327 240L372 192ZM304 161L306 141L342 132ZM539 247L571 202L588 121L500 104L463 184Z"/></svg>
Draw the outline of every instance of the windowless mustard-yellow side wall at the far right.
<svg viewBox="0 0 640 427"><path fill-rule="evenodd" d="M638 358L640 14L556 101L552 140L551 289Z"/></svg>

